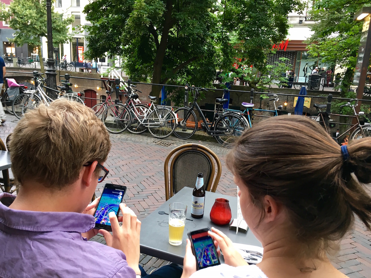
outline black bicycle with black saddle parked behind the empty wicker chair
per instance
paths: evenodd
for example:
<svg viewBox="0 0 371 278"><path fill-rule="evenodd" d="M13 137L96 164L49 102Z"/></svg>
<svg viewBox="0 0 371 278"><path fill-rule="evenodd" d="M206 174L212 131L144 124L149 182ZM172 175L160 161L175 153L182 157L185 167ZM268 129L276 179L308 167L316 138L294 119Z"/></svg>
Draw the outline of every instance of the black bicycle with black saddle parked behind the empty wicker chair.
<svg viewBox="0 0 371 278"><path fill-rule="evenodd" d="M188 89L187 86L185 89ZM205 129L206 133L213 136L220 145L227 148L232 147L237 137L241 136L244 130L248 128L246 119L243 119L242 113L220 111L220 106L228 102L228 99L217 98L216 101L219 103L218 109L214 114L213 121L209 123L197 103L200 91L207 92L207 90L194 86L190 90L193 92L194 97L192 105L175 110L178 116L178 123L175 127L174 135L180 139L188 139L194 135L198 128L197 116L193 111L196 108L203 120L201 127Z"/></svg>

